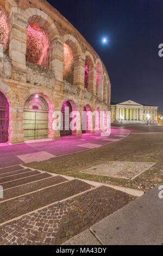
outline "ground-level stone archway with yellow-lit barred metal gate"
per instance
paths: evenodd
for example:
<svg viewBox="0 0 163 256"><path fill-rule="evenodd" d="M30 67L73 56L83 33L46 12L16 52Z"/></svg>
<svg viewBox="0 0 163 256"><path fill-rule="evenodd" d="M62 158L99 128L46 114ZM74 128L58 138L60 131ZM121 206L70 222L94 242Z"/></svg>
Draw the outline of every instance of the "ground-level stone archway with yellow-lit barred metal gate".
<svg viewBox="0 0 163 256"><path fill-rule="evenodd" d="M49 100L49 97L47 95L43 93L28 94L28 96L26 97L26 101L24 102L24 131L25 131L24 137L25 138L28 137L26 139L54 138L53 113L54 113L54 106L52 101ZM33 123L28 124L28 122L26 122L26 120L28 120L28 118L26 118L26 115L31 115L31 117L34 118L34 120L36 121L35 124ZM42 127L39 126L40 123L42 124ZM36 125L36 126L33 127L33 125ZM29 129L28 127L31 127L31 129L35 131L35 135L32 134L31 136L32 138L30 138L28 132L26 136L26 130ZM42 132L39 133L39 130L41 129L43 130L44 133Z"/></svg>

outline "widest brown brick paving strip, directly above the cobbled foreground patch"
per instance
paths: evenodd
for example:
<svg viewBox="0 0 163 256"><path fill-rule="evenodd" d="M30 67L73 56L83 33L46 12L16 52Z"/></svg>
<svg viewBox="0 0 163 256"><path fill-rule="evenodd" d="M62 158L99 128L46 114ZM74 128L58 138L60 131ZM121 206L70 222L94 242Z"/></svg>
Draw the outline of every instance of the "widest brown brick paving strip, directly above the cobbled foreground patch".
<svg viewBox="0 0 163 256"><path fill-rule="evenodd" d="M89 190L91 187L83 181L72 180L2 202L0 204L0 223Z"/></svg>

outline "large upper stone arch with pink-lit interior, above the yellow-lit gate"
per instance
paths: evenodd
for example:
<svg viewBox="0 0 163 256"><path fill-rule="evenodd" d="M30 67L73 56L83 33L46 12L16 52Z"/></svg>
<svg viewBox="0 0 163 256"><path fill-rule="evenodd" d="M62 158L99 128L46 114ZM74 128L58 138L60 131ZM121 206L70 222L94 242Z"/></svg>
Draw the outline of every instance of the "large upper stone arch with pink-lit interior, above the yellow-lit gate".
<svg viewBox="0 0 163 256"><path fill-rule="evenodd" d="M58 30L50 16L39 9L28 8L27 52L26 59L45 68L51 66L53 59L53 38ZM30 14L32 12L32 14Z"/></svg>

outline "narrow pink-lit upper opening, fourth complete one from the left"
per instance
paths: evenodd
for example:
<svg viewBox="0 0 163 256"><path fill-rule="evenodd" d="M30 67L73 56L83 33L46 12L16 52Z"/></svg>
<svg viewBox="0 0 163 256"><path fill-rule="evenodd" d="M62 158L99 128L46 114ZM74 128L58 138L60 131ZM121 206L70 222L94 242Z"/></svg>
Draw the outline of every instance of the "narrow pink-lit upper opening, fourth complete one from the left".
<svg viewBox="0 0 163 256"><path fill-rule="evenodd" d="M103 81L102 64L98 62L96 65L96 96L100 100L102 99L102 81Z"/></svg>

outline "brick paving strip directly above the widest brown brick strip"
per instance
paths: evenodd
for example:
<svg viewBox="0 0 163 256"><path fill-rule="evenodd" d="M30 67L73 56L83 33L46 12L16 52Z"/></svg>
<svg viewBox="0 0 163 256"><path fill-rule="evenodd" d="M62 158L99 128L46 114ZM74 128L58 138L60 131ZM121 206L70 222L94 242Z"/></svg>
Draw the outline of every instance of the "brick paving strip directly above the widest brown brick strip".
<svg viewBox="0 0 163 256"><path fill-rule="evenodd" d="M22 186L10 188L9 190L4 190L3 199L0 199L0 203L3 202L4 200L18 197L21 196L22 194L34 192L36 190L40 190L41 188L49 187L65 181L67 181L67 179L63 178L62 176L52 176L51 178L48 179L39 180Z"/></svg>

